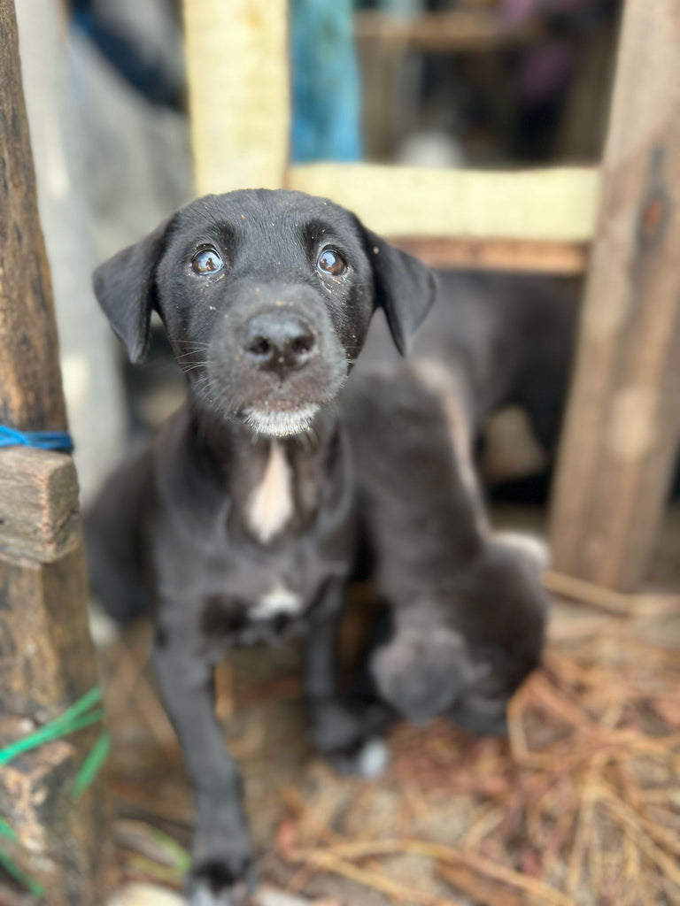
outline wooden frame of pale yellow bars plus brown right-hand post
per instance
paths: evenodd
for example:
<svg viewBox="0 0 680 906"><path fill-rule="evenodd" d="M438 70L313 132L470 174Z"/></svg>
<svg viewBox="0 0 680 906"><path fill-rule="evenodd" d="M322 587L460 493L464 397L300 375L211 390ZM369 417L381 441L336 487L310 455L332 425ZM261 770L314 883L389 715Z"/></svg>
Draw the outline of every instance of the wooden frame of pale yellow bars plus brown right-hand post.
<svg viewBox="0 0 680 906"><path fill-rule="evenodd" d="M219 136L205 117L194 121L199 191L267 186L329 196L377 232L442 267L578 274L586 270L588 248L597 236L552 542L558 568L622 590L636 584L656 534L680 437L673 383L680 361L680 271L670 251L673 241L675 255L680 247L680 64L673 43L678 34L673 0L627 0L604 171L291 167L290 114L283 109L282 87L287 85L285 0L248 5L245 0L185 0L185 11L192 110L200 110L206 73L213 83L241 86ZM199 29L205 21L210 29ZM270 65L257 78L248 59L253 43L248 28L254 22L267 53L278 55L276 67ZM498 40L489 23L476 31L462 20L449 25L473 44ZM430 25L406 28L369 17L361 29L377 43L439 47ZM232 40L237 35L243 35L238 46ZM224 52L222 37L233 53ZM516 37L532 39L530 34ZM271 114L266 141L265 130L248 127L252 111ZM234 156L238 161L231 166ZM627 437L627 426L634 422L637 434L646 438L638 447ZM614 514L616 526L610 524Z"/></svg>

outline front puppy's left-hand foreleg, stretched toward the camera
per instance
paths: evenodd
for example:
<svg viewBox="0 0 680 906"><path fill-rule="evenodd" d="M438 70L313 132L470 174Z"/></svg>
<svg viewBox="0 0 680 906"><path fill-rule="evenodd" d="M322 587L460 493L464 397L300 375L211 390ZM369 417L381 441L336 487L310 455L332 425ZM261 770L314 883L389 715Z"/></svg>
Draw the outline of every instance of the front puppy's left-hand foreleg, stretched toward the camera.
<svg viewBox="0 0 680 906"><path fill-rule="evenodd" d="M153 660L196 795L189 903L240 906L255 885L254 859L238 766L215 716L214 667L186 637L157 642Z"/></svg>

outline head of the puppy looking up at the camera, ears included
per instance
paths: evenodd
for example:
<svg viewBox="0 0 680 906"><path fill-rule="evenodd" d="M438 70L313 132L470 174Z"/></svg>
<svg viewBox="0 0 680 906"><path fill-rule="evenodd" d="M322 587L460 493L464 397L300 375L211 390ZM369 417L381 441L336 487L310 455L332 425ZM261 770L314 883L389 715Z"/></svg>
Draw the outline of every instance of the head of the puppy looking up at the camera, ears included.
<svg viewBox="0 0 680 906"><path fill-rule="evenodd" d="M155 308L194 405L287 435L335 398L376 305L404 350L433 280L325 199L248 190L192 202L98 268L95 291L132 361Z"/></svg>

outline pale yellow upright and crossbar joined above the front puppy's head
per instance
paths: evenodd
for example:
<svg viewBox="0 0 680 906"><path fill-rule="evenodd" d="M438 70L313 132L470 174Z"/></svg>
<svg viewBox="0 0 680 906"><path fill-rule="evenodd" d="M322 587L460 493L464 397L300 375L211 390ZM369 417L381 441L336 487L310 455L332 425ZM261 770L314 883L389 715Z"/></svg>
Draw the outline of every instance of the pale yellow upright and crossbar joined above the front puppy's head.
<svg viewBox="0 0 680 906"><path fill-rule="evenodd" d="M286 0L185 0L184 14L199 194L261 186L328 196L433 265L585 269L597 169L290 166Z"/></svg>

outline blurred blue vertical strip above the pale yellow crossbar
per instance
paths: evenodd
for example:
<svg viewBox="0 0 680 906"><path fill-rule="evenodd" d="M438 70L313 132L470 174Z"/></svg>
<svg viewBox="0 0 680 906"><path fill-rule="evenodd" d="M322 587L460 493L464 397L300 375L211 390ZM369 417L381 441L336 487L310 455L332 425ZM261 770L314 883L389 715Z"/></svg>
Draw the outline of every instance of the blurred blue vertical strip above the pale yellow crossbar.
<svg viewBox="0 0 680 906"><path fill-rule="evenodd" d="M362 157L352 0L292 0L291 158Z"/></svg>

